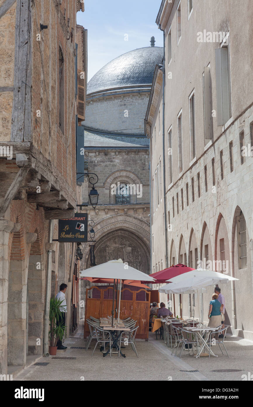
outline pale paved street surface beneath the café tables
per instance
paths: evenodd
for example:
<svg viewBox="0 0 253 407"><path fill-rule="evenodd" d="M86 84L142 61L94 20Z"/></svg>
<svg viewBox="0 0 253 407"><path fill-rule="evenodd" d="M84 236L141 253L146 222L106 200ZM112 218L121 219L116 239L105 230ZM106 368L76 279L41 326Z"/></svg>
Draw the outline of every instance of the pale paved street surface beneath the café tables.
<svg viewBox="0 0 253 407"><path fill-rule="evenodd" d="M37 362L49 363L46 366L31 365L17 375L14 380L22 381L241 381L242 374L248 376L253 366L253 342L238 337L227 336L225 340L229 358L222 355L218 347L213 347L218 358L203 357L201 360L190 357L183 352L181 359L171 356L171 349L167 348L164 341L156 340L155 334L149 335L149 341L137 339L138 358L129 346L124 352L126 358L103 358L99 348L93 357L91 352L95 346L92 342L89 350L71 347L84 347L82 337L82 324L78 333L73 338L65 341L67 350L57 353L60 359L41 358ZM74 358L74 359L64 359ZM197 372L184 372L198 370ZM217 372L214 372L217 370ZM223 372L228 370L228 372ZM237 370L237 371L234 371Z"/></svg>

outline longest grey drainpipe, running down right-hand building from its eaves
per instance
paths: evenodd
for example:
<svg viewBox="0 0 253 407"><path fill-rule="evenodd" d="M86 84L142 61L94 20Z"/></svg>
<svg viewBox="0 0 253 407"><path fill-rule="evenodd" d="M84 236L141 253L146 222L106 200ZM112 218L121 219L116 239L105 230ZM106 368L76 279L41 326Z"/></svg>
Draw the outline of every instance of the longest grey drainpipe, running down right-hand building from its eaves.
<svg viewBox="0 0 253 407"><path fill-rule="evenodd" d="M164 114L165 114L165 33L158 24L159 29L163 32L163 66L162 70L162 159L163 159L163 200L164 200L164 230L165 230L165 252L166 268L169 267L168 261L168 232L167 232L167 201L166 201L166 179L165 179L165 131L164 131Z"/></svg>

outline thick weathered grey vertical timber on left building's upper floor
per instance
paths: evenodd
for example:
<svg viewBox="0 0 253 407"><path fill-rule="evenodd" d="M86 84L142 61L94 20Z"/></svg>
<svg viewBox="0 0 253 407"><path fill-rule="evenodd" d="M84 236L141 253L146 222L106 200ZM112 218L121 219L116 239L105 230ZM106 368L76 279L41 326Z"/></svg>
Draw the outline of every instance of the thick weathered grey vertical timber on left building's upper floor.
<svg viewBox="0 0 253 407"><path fill-rule="evenodd" d="M17 0L11 141L32 140L31 0Z"/></svg>

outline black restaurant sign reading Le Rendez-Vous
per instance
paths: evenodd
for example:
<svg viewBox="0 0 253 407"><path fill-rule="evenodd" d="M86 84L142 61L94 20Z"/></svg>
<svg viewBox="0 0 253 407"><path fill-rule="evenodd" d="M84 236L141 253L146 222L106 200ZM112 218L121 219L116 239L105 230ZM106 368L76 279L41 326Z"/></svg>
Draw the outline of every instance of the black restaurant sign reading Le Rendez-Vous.
<svg viewBox="0 0 253 407"><path fill-rule="evenodd" d="M87 213L75 213L74 218L59 219L58 242L86 242L87 219Z"/></svg>

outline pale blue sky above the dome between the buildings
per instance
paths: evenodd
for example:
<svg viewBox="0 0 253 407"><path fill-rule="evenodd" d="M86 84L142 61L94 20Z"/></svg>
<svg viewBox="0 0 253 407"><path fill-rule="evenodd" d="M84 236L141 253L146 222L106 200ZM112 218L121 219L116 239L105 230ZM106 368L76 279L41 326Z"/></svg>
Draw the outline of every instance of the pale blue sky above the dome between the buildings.
<svg viewBox="0 0 253 407"><path fill-rule="evenodd" d="M77 23L88 30L88 81L112 59L136 48L163 46L156 25L160 0L84 0ZM124 35L128 34L128 41Z"/></svg>

